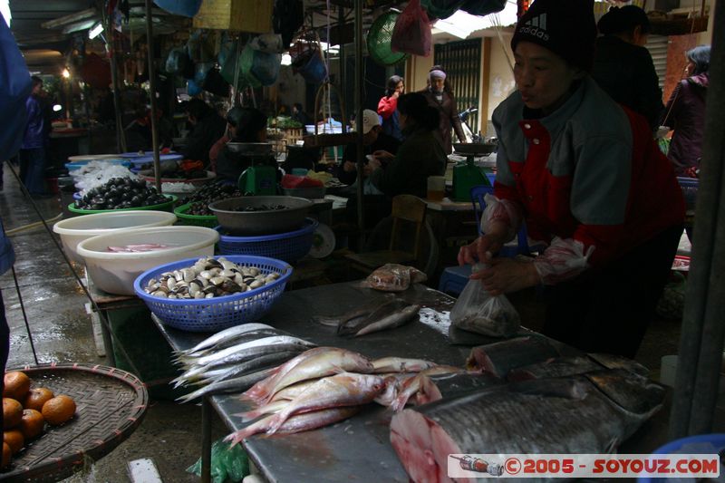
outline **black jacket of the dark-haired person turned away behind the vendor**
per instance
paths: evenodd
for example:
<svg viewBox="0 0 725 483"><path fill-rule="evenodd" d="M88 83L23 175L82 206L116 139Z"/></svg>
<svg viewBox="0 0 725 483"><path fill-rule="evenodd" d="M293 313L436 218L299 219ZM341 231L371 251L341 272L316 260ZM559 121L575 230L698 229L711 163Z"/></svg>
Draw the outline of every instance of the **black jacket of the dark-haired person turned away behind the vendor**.
<svg viewBox="0 0 725 483"><path fill-rule="evenodd" d="M614 35L596 39L592 77L614 101L644 116L652 131L660 126L662 89L650 51Z"/></svg>

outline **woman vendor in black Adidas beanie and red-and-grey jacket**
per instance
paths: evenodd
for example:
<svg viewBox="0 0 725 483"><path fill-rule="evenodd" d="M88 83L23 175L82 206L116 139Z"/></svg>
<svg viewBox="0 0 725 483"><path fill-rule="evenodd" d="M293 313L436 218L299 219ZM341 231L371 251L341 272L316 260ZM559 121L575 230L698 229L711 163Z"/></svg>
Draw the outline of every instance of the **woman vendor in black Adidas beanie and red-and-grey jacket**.
<svg viewBox="0 0 725 483"><path fill-rule="evenodd" d="M591 0L536 0L511 40L517 92L493 113L498 174L483 235L459 263L488 259L526 220L548 245L533 263L496 258L471 278L492 295L546 286L543 333L586 352L637 353L682 232L684 204L647 121L588 74Z"/></svg>

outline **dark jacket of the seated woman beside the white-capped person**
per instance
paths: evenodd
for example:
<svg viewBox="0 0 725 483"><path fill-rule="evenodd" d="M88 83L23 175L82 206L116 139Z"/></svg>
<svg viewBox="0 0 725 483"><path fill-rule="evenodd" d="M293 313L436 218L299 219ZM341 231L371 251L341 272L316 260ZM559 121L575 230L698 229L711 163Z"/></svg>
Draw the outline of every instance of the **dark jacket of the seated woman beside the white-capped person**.
<svg viewBox="0 0 725 483"><path fill-rule="evenodd" d="M372 184L385 195L414 195L426 197L428 177L441 176L446 171L447 156L433 131L403 130L405 140L398 154L385 169L375 169Z"/></svg>

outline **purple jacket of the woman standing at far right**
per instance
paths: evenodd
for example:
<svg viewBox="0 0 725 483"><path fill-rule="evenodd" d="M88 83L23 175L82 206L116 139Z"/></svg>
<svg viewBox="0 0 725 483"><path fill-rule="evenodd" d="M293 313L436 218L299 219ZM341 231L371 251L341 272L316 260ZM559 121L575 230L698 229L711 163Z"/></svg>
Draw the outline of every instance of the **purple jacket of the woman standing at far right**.
<svg viewBox="0 0 725 483"><path fill-rule="evenodd" d="M708 72L680 81L664 110L662 125L674 130L667 157L674 163L677 176L699 165L705 133L705 96L709 83Z"/></svg>

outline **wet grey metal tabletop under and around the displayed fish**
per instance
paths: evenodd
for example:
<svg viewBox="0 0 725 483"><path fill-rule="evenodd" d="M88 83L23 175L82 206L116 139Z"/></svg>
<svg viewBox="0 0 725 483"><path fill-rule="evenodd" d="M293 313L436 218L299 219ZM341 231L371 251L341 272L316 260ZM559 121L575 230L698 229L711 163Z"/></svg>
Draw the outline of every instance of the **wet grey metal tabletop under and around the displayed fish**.
<svg viewBox="0 0 725 483"><path fill-rule="evenodd" d="M321 285L285 292L260 322L304 337L318 345L342 347L371 358L388 355L427 359L461 366L469 347L448 343L448 312L455 299L437 290L416 285L401 296L420 302L426 316L422 323L411 323L393 331L372 333L360 339L335 335L333 328L314 324L313 314L341 314L384 293L361 287L361 283ZM435 311L435 312L433 312ZM429 316L430 315L430 316ZM160 324L161 332L174 349L188 349L208 337L208 333L186 333ZM208 455L209 406L224 420L229 430L246 426L238 412L247 411L238 396L211 396L202 406L202 459ZM391 412L370 404L360 414L320 430L280 437L253 437L245 446L249 458L269 481L401 481L409 480L390 444L388 423ZM202 473L203 474L203 473Z"/></svg>

